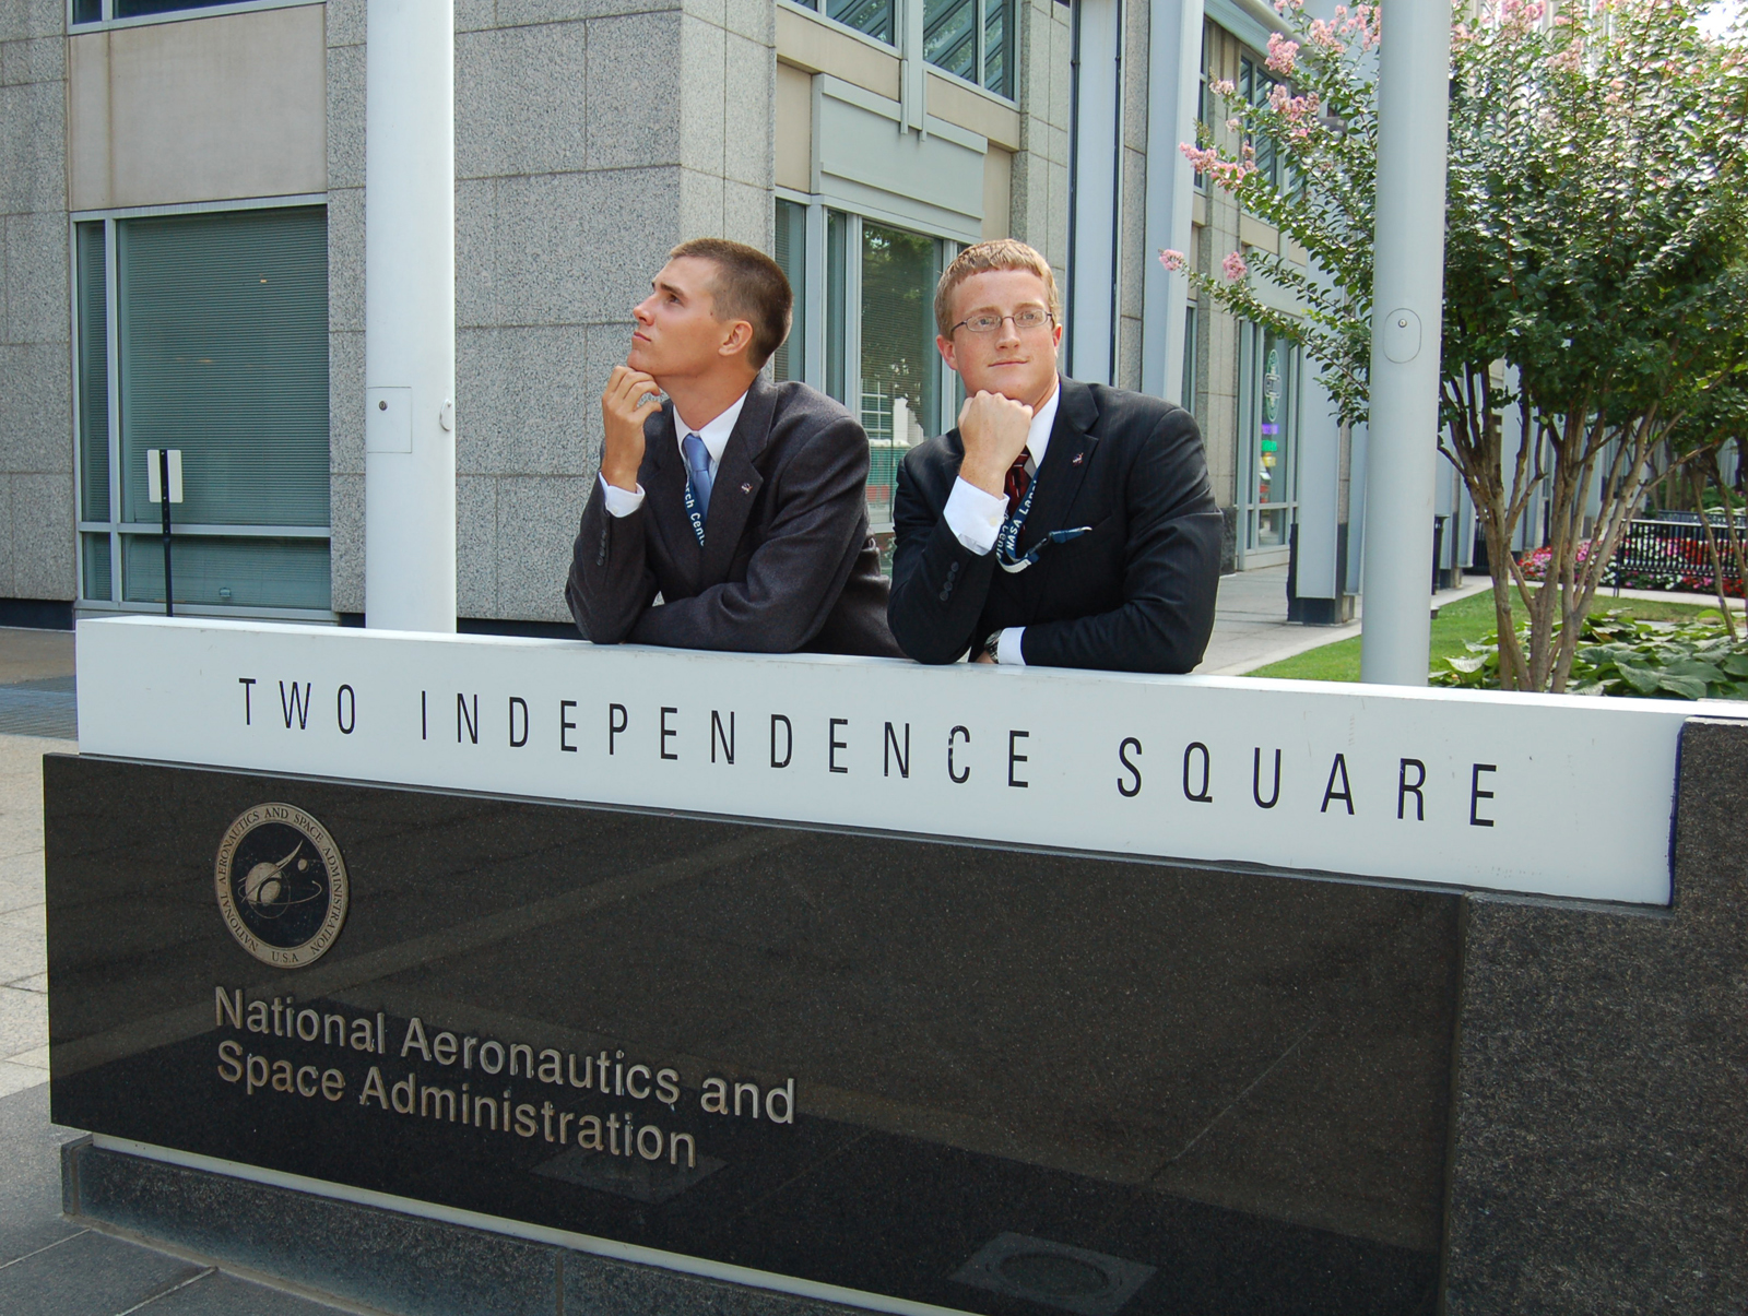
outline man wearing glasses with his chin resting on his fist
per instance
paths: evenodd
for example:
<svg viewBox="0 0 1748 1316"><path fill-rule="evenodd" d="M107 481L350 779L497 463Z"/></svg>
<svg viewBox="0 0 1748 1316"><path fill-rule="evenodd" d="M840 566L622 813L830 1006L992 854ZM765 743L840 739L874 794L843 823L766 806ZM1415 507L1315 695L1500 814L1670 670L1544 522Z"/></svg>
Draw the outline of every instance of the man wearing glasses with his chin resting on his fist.
<svg viewBox="0 0 1748 1316"><path fill-rule="evenodd" d="M1056 374L1061 299L1010 238L935 288L956 430L905 454L888 619L918 662L1189 671L1220 578L1220 510L1196 419Z"/></svg>

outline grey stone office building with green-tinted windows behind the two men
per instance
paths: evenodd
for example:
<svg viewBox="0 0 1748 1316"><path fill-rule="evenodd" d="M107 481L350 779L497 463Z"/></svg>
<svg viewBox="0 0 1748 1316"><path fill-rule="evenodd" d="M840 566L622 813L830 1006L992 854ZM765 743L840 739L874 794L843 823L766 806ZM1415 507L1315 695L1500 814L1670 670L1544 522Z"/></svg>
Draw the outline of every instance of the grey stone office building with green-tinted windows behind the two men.
<svg viewBox="0 0 1748 1316"><path fill-rule="evenodd" d="M458 0L461 619L566 620L601 383L699 234L788 271L771 369L862 418L876 533L897 460L961 397L935 278L1010 234L1066 290L1073 374L1196 411L1231 566L1285 561L1320 486L1339 598L1349 435L1308 421L1292 344L1185 304L1154 260L1185 215L1204 267L1281 243L1220 194L1185 206L1176 150L1185 79L1264 87L1273 14L1182 2ZM163 606L161 449L180 610L358 619L364 0L5 14L0 622Z"/></svg>

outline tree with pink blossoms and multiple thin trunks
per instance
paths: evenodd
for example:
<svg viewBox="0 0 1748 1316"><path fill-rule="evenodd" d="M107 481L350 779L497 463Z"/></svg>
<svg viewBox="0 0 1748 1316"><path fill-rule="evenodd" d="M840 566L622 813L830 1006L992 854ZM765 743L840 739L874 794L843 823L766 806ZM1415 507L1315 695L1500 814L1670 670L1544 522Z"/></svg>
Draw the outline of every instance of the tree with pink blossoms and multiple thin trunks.
<svg viewBox="0 0 1748 1316"><path fill-rule="evenodd" d="M1292 35L1269 42L1281 84L1266 101L1213 84L1210 121L1231 124L1238 149L1201 124L1183 154L1309 264L1250 250L1246 273L1215 278L1161 259L1304 344L1341 418L1360 421L1381 23L1370 5L1325 21L1301 3L1276 3ZM1566 689L1627 523L1655 481L1703 453L1687 439L1694 418L1748 371L1748 33L1706 35L1703 9L1484 0L1477 17L1458 5L1439 444L1486 537L1505 689ZM1285 161L1278 180L1255 164L1264 138ZM1255 280L1295 294L1302 315L1262 302ZM1538 498L1549 552L1533 584L1510 545Z"/></svg>

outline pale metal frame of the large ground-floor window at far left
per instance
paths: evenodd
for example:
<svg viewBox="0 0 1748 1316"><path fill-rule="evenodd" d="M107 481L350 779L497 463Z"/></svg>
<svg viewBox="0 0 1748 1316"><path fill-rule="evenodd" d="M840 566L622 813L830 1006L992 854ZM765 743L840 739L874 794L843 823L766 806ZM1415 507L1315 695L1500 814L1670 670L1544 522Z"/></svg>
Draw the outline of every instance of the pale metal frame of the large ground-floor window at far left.
<svg viewBox="0 0 1748 1316"><path fill-rule="evenodd" d="M107 3L107 0L105 0ZM262 9L285 7L276 3L257 5ZM201 10L205 12L205 10ZM322 206L327 210L327 192L306 192L299 196L273 196L273 197L250 197L243 201L192 201L182 204L166 206L119 206L110 210L77 210L70 211L66 217L66 241L68 250L79 250L79 225L80 224L103 224L103 350L107 362L107 402L108 402L108 519L91 521L84 516L84 475L86 475L86 446L82 437L82 405L79 388L79 344L84 339L84 315L80 309L80 283L77 259L73 260L73 274L68 280L68 301L72 309L72 344L70 344L70 369L72 369L72 433L73 433L73 498L75 498L75 521L73 535L77 551L73 552L75 564L75 591L77 598L73 601L75 613L159 613L163 612L161 603L138 603L124 598L126 585L122 582L122 535L135 537L161 537L163 526L157 523L138 523L124 521L122 510L122 468L121 468L121 271L117 269L115 252L115 224L131 218L156 218L161 215L224 215L239 210L308 210L309 206ZM330 308L332 316L332 308ZM329 418L330 435L332 435L332 416ZM332 437L329 440L332 444ZM332 524L332 507L329 510L327 526L245 526L245 524L201 524L201 523L177 523L177 535L185 535L189 538L212 537L212 538L320 538L325 540L330 549L334 542L334 524ZM107 599L87 598L86 594L86 535L108 535L108 570L110 570L110 594ZM330 566L332 571L332 566ZM262 608L252 605L225 605L225 603L184 603L178 610L191 617L238 617L238 619L264 619L264 620L301 620L301 622L337 622L339 613L332 608Z"/></svg>

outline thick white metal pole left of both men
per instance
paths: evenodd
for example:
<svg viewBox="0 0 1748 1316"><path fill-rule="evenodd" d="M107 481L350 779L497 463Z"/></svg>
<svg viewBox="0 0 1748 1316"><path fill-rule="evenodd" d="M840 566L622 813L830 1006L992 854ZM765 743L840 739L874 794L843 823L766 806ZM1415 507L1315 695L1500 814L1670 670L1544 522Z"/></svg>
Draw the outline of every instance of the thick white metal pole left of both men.
<svg viewBox="0 0 1748 1316"><path fill-rule="evenodd" d="M364 608L454 631L454 5L369 0Z"/></svg>

